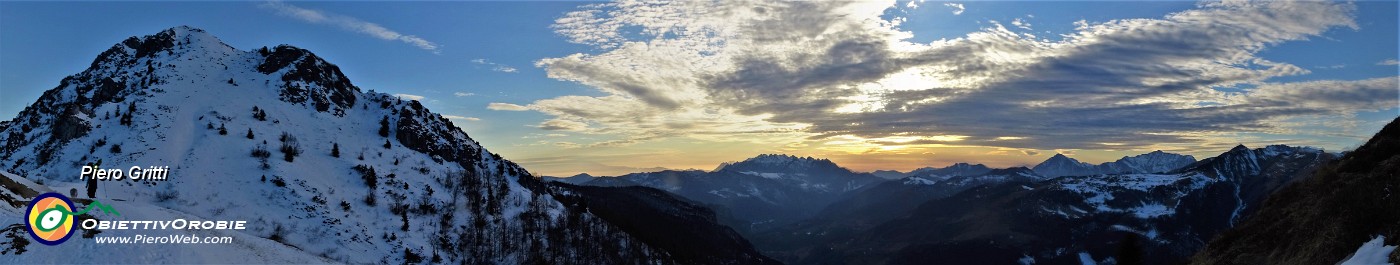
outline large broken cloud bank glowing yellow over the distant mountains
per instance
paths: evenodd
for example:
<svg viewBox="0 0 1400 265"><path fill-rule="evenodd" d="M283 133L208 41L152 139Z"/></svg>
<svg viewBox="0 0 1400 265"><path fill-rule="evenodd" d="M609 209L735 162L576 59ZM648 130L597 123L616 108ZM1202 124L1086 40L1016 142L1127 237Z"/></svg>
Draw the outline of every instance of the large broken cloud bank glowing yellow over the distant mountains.
<svg viewBox="0 0 1400 265"><path fill-rule="evenodd" d="M1396 98L1380 90L1393 79L1273 83L1310 72L1256 56L1355 28L1350 3L1205 3L1161 18L1079 21L1060 41L991 24L927 43L881 18L895 4L584 6L553 28L596 52L536 66L602 95L546 98L529 109L553 116L540 128L623 136L616 144L696 137L846 150L1123 150L1273 133L1287 129L1284 119L1331 118ZM1330 100L1288 104L1306 97ZM1347 100L1359 102L1340 104ZM939 139L946 136L962 137Z"/></svg>

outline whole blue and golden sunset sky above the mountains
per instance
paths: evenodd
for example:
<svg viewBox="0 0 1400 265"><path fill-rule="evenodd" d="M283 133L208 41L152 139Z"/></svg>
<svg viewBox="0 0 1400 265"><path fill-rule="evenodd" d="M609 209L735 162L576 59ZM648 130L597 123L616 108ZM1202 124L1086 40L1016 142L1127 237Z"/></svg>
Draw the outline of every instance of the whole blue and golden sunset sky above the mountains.
<svg viewBox="0 0 1400 265"><path fill-rule="evenodd" d="M1359 146L1390 1L0 1L0 118L127 36L312 50L536 174L857 171Z"/></svg>

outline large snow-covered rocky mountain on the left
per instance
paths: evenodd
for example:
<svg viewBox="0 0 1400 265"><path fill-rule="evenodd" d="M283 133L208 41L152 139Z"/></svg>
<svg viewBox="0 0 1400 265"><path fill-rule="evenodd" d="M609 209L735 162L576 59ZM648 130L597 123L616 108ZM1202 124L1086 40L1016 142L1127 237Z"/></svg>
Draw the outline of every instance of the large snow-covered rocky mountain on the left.
<svg viewBox="0 0 1400 265"><path fill-rule="evenodd" d="M169 165L168 181L101 185L99 199L133 210L120 217L249 222L239 244L202 245L227 255L113 261L668 261L416 101L361 91L304 49L238 50L189 27L113 45L6 122L0 143L0 168L57 191L81 191L88 163ZM286 160L283 146L300 154ZM60 261L31 250L25 261Z"/></svg>

